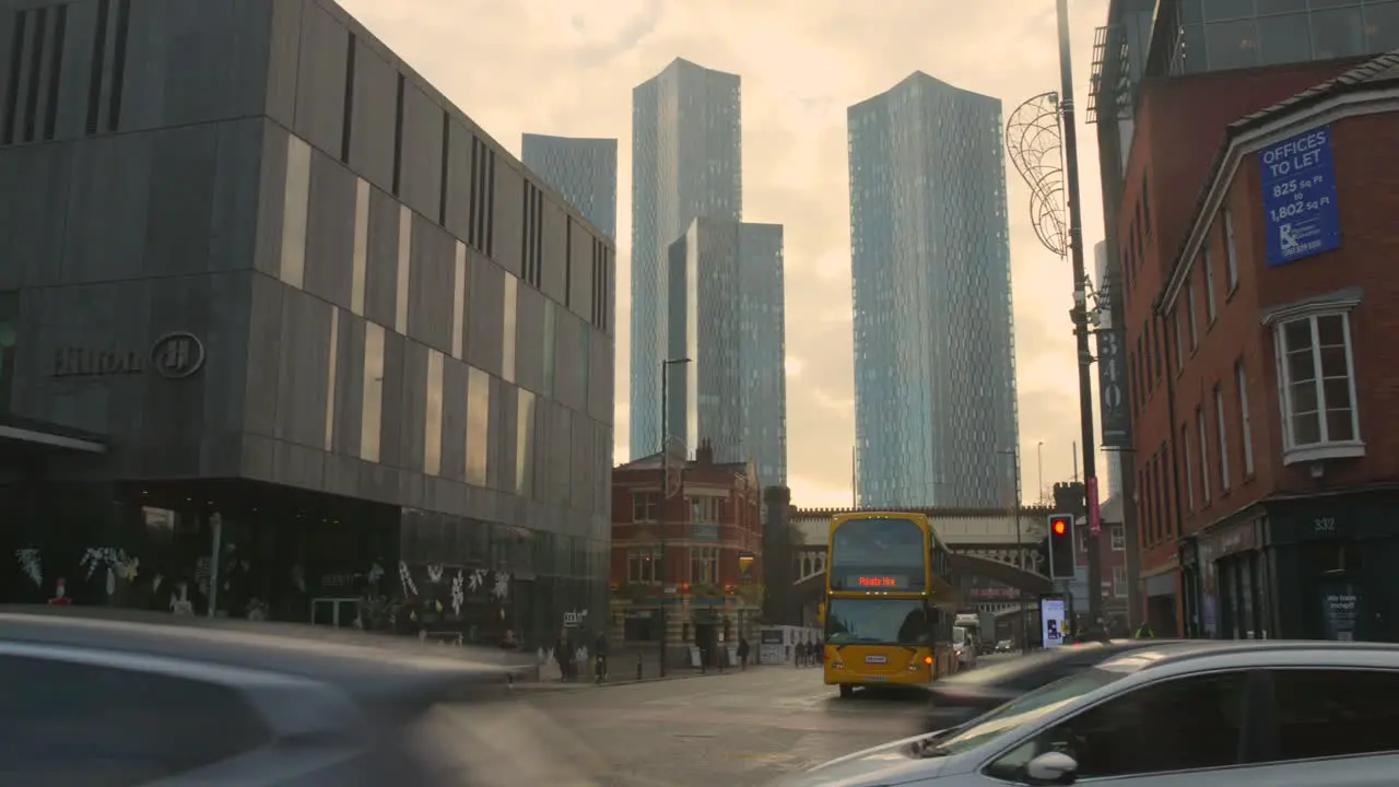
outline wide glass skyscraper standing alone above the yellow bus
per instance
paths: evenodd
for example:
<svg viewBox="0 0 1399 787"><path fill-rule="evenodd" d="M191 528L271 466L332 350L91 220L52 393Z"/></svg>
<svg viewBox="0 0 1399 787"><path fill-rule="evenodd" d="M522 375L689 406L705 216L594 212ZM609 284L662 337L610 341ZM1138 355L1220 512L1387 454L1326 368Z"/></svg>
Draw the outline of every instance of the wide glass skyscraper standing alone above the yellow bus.
<svg viewBox="0 0 1399 787"><path fill-rule="evenodd" d="M915 71L848 111L860 506L1013 499L1000 101Z"/></svg>

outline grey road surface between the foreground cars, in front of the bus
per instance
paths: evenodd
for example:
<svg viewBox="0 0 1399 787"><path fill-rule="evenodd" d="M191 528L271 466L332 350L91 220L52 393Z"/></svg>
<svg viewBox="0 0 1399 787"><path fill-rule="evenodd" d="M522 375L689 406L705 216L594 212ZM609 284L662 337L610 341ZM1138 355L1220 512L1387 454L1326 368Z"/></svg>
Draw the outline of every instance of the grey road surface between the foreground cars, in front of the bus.
<svg viewBox="0 0 1399 787"><path fill-rule="evenodd" d="M1000 657L1004 658L1004 657ZM922 690L839 699L818 668L533 693L609 787L744 787L919 732Z"/></svg>

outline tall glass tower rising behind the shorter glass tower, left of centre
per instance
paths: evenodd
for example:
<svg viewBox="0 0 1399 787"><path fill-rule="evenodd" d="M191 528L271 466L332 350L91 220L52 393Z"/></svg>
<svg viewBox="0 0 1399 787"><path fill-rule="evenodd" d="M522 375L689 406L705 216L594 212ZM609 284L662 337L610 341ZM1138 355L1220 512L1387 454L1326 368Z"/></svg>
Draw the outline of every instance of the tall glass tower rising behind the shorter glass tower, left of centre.
<svg viewBox="0 0 1399 787"><path fill-rule="evenodd" d="M743 158L737 74L676 59L637 85L631 101L631 458L637 459L660 450L670 246L695 217L743 218Z"/></svg>

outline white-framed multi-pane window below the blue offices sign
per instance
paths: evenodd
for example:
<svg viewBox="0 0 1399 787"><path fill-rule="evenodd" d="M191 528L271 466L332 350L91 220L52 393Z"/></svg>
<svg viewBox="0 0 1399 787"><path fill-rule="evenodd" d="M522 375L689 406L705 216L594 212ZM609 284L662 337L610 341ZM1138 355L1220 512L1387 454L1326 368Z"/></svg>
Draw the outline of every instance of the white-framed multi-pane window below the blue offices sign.
<svg viewBox="0 0 1399 787"><path fill-rule="evenodd" d="M1349 315L1311 314L1274 330L1283 462L1364 457Z"/></svg>

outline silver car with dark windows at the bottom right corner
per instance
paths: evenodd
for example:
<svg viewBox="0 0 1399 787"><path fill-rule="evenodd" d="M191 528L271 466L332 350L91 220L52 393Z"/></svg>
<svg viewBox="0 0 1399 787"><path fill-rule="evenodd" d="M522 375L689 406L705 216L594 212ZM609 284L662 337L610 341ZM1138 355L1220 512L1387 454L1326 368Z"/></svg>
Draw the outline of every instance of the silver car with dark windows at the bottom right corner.
<svg viewBox="0 0 1399 787"><path fill-rule="evenodd" d="M1171 643L779 784L1399 784L1399 647Z"/></svg>

